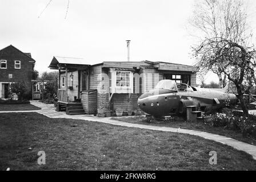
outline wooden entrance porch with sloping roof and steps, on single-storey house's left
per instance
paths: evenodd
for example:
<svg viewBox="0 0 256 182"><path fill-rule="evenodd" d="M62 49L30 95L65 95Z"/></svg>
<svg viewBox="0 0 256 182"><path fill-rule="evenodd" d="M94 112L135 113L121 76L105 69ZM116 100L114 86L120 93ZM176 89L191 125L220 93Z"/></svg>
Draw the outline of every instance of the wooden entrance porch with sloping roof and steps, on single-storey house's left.
<svg viewBox="0 0 256 182"><path fill-rule="evenodd" d="M50 69L58 69L58 111L67 114L85 114L81 103L81 91L89 86L89 65L73 57L54 56Z"/></svg>

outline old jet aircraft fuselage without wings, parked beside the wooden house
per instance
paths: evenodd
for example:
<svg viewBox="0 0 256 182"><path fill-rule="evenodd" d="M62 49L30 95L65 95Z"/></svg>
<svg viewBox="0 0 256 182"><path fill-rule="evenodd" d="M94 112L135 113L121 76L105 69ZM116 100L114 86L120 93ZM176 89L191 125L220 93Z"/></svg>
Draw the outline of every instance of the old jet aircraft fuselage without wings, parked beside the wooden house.
<svg viewBox="0 0 256 182"><path fill-rule="evenodd" d="M161 80L155 89L138 98L139 108L147 114L165 117L171 114L185 114L187 106L197 106L206 114L222 107L237 104L237 96L222 90L213 90L176 83L173 80Z"/></svg>

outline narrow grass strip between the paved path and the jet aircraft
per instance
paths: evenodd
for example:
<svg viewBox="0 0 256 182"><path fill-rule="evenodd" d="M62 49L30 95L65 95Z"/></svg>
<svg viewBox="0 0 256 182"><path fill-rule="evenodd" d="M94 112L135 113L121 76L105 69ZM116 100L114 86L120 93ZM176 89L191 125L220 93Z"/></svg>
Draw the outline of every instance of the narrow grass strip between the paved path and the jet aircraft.
<svg viewBox="0 0 256 182"><path fill-rule="evenodd" d="M152 121L150 123L146 122L146 118L143 116L115 117L115 118L111 118L111 119L114 119L117 121L129 122L129 123L138 123L138 124L143 124L143 125L175 127L175 128L181 128L181 129L205 131L205 132L209 132L209 133L213 133L213 134L222 135L225 137L234 138L241 142L256 145L256 139L251 138L251 137L243 137L242 133L239 133L239 131L226 129L224 127L211 127L209 125L205 125L203 122L198 122L198 123L185 122L185 120L183 118L178 118L176 121L172 121L172 122Z"/></svg>

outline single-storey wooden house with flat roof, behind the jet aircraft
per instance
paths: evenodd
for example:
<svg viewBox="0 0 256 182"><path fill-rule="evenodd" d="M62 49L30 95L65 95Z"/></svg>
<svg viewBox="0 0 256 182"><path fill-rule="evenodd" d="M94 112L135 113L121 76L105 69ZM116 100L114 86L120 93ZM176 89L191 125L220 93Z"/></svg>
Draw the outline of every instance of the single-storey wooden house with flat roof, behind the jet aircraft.
<svg viewBox="0 0 256 182"><path fill-rule="evenodd" d="M83 109L92 107L86 114L102 107L135 111L138 97L163 79L196 86L197 67L159 61L103 61L90 65L83 59L54 56L49 68L59 71L59 104L81 102Z"/></svg>

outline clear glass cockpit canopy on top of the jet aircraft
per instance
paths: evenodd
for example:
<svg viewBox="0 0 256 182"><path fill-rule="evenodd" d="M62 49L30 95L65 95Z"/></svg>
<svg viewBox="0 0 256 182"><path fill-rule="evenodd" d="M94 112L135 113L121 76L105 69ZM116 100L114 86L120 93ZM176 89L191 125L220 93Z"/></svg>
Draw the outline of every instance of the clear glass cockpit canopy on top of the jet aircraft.
<svg viewBox="0 0 256 182"><path fill-rule="evenodd" d="M158 82L155 89L166 89L166 90L175 90L180 92L193 92L193 88L187 84L176 83L173 80L161 80Z"/></svg>

